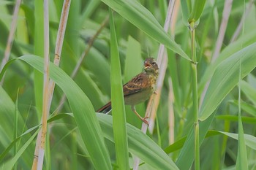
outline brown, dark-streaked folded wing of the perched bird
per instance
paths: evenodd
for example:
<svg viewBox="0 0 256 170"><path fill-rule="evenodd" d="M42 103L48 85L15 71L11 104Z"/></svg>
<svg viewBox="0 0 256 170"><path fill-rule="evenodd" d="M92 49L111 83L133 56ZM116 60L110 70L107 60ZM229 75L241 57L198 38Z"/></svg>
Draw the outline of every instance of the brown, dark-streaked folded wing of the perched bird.
<svg viewBox="0 0 256 170"><path fill-rule="evenodd" d="M124 96L129 96L134 93L138 93L146 88L147 81L145 81L146 75L143 73L138 74L132 80L127 82L123 86Z"/></svg>

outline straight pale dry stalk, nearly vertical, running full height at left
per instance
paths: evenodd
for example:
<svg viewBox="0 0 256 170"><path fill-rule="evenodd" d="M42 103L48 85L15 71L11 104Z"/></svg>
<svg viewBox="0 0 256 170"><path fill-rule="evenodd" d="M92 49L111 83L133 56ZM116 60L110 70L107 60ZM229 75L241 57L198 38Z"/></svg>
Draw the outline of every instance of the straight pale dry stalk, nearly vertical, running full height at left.
<svg viewBox="0 0 256 170"><path fill-rule="evenodd" d="M47 134L47 117L49 112L48 95L49 95L49 3L44 1L44 85L43 85L43 101L42 101L42 134L39 137L38 155L34 155L34 162L32 169L42 169L42 164L45 155L45 137ZM38 146L36 146L37 150ZM37 157L38 156L38 157Z"/></svg>

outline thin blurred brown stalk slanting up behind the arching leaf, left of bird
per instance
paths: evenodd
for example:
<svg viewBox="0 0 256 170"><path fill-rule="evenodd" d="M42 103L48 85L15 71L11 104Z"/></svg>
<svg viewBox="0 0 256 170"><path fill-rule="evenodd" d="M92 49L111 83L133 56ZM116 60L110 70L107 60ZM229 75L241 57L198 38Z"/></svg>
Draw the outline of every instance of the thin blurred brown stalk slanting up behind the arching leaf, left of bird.
<svg viewBox="0 0 256 170"><path fill-rule="evenodd" d="M109 16L107 16L105 18L105 20L103 20L103 22L101 23L99 29L97 30L96 34L94 34L94 36L91 37L91 39L89 40L88 42L88 45L86 47L86 50L84 50L84 52L82 53L82 55L80 56L80 59L78 61L78 63L76 64L75 66L75 69L73 70L72 74L71 74L71 78L74 79L75 76L78 74L78 70L80 69L80 66L82 65L83 63L83 60L84 58L86 58L86 56L88 55L92 45L94 44L94 41L95 39L97 39L97 37L99 36L99 34L101 33L101 31L103 30L103 28L105 28L105 26L107 25L108 23L108 20L109 20ZM59 101L59 104L58 104L58 108L56 109L56 113L60 112L62 107L63 107L63 104L66 100L66 96L63 94L61 96L61 100Z"/></svg>

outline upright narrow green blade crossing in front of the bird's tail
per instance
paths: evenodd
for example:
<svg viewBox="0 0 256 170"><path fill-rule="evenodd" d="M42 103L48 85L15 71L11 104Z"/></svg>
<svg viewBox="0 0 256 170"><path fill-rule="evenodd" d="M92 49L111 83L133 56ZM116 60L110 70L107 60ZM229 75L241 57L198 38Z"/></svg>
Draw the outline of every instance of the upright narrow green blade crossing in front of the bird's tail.
<svg viewBox="0 0 256 170"><path fill-rule="evenodd" d="M111 58L111 103L113 115L113 133L116 147L116 161L118 169L129 169L129 155L127 144L127 127L124 93L121 81L121 66L116 39L115 24L112 9L110 13L110 58Z"/></svg>

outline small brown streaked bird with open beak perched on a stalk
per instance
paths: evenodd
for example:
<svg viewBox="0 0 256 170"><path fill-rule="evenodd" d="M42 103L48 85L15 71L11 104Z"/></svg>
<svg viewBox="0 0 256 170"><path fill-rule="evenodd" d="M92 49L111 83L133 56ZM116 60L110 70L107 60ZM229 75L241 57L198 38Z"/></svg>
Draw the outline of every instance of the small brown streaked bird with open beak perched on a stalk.
<svg viewBox="0 0 256 170"><path fill-rule="evenodd" d="M158 66L154 58L146 58L144 61L144 72L138 74L132 80L123 85L124 104L130 105L132 111L148 124L148 117L141 117L135 109L136 104L146 101L154 93L158 77ZM108 113L111 110L111 101L97 110L97 112Z"/></svg>

